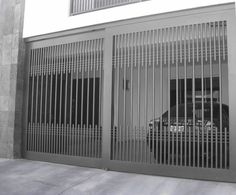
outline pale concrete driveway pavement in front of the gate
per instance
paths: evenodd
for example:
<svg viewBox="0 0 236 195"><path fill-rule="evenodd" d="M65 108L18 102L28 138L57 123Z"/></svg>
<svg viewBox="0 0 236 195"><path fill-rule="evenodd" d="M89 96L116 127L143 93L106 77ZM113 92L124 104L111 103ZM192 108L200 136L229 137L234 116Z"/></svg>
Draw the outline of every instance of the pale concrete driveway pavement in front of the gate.
<svg viewBox="0 0 236 195"><path fill-rule="evenodd" d="M0 159L0 194L233 195L236 184Z"/></svg>

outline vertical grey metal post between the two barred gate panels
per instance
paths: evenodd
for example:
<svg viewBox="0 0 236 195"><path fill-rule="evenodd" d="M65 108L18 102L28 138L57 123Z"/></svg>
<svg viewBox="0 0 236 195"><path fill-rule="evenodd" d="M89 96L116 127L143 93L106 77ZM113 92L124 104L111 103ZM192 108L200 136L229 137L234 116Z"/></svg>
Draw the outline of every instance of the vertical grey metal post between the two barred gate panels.
<svg viewBox="0 0 236 195"><path fill-rule="evenodd" d="M108 168L111 152L111 108L112 108L112 36L104 36L104 76L102 96L102 167Z"/></svg>

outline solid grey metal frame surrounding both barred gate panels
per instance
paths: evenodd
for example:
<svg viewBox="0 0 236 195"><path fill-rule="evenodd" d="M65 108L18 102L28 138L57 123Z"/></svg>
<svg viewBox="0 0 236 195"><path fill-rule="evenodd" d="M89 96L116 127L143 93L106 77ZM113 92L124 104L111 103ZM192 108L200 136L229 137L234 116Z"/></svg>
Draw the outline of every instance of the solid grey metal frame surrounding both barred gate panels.
<svg viewBox="0 0 236 195"><path fill-rule="evenodd" d="M230 139L230 168L196 168L173 165L154 165L135 162L111 160L111 119L112 119L112 47L113 35L128 32L144 31L147 29L158 29L164 27L198 24L211 21L227 21L227 43L228 43L228 88L229 88L229 139ZM173 176L191 179L205 179L216 181L236 182L236 17L235 4L227 3L202 8L194 8L171 13L144 16L135 19L94 25L80 29L56 32L52 34L25 39L27 42L27 54L32 47L45 46L45 44L56 44L58 41L70 41L77 38L91 38L88 34L102 36L104 38L104 64L103 64L103 96L102 96L102 158L99 161L94 158L73 157L66 155L45 154L37 152L26 152L23 147L24 157L32 160L43 160L63 164L81 165L87 167L104 168L108 170L135 172L151 175ZM92 36L92 37L93 37ZM82 39L81 39L82 40ZM60 42L61 43L61 42ZM28 78L29 62L25 78ZM24 108L27 108L27 86L25 79ZM27 109L26 109L27 110ZM24 117L24 140L26 140L25 129L27 126L27 113ZM24 141L26 143L26 141Z"/></svg>

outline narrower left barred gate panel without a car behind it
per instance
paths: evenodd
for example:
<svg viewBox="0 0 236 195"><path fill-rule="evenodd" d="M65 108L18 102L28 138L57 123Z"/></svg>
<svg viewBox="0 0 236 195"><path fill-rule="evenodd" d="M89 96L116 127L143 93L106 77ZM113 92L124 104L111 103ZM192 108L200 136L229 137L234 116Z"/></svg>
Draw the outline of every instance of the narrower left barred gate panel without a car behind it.
<svg viewBox="0 0 236 195"><path fill-rule="evenodd" d="M26 154L101 158L103 38L32 47Z"/></svg>

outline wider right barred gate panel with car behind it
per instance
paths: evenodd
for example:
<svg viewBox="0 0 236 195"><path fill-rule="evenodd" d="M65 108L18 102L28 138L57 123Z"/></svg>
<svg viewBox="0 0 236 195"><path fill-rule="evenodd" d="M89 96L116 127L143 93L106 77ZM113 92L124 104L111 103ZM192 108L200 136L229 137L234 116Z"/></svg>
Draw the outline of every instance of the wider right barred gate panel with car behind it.
<svg viewBox="0 0 236 195"><path fill-rule="evenodd" d="M111 160L229 169L227 22L113 43Z"/></svg>

